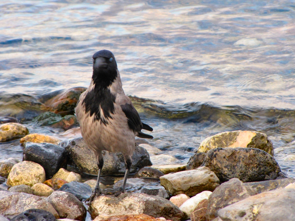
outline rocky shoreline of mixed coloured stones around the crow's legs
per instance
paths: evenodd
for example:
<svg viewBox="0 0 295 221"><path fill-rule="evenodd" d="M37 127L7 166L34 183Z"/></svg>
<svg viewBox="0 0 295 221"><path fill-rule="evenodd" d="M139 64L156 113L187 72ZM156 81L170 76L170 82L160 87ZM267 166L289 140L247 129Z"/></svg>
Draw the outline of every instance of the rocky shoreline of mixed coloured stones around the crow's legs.
<svg viewBox="0 0 295 221"><path fill-rule="evenodd" d="M295 220L295 179L273 157L273 145L257 131L206 138L185 165L137 139L132 175L118 197L87 199L95 185L94 155L79 136L73 114L83 88L42 98L37 125L63 128L68 139L29 130L0 118L0 141L21 138L23 159L0 162L0 220ZM71 129L72 128L72 129ZM101 189L119 187L125 167L120 153L104 152Z"/></svg>

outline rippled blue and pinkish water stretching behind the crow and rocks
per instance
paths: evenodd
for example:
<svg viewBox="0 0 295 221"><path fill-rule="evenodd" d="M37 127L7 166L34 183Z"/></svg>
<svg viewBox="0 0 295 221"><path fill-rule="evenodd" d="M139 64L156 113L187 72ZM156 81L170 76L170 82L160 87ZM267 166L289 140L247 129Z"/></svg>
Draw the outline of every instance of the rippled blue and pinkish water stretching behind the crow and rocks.
<svg viewBox="0 0 295 221"><path fill-rule="evenodd" d="M2 0L0 114L28 120L37 113L18 110L38 96L88 87L101 49L114 53L125 93L154 128L151 144L176 163L208 136L253 130L295 177L294 0ZM18 142L1 144L0 159L21 159Z"/></svg>

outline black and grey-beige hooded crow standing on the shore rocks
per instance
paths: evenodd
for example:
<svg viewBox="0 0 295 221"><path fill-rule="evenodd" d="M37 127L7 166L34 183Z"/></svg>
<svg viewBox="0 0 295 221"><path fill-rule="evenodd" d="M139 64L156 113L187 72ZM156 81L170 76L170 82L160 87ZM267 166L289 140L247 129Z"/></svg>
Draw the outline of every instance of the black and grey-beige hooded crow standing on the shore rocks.
<svg viewBox="0 0 295 221"><path fill-rule="evenodd" d="M135 136L153 138L141 132L142 129L153 131L153 128L141 122L131 99L125 95L114 54L109 50L100 50L94 53L92 60L91 83L80 95L75 108L83 140L94 153L98 166L96 187L86 199L89 205L96 195L118 196L124 192L135 151ZM126 167L122 186L108 192L102 192L99 188L104 164L103 150L122 152Z"/></svg>

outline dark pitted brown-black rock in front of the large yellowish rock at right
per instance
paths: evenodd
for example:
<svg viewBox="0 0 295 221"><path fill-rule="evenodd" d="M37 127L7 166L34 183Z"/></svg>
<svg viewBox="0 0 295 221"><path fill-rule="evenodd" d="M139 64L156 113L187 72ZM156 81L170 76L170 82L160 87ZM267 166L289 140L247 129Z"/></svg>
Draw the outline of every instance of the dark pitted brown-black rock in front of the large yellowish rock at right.
<svg viewBox="0 0 295 221"><path fill-rule="evenodd" d="M221 182L238 178L242 182L276 179L280 166L270 154L256 148L216 148L208 151L204 166Z"/></svg>

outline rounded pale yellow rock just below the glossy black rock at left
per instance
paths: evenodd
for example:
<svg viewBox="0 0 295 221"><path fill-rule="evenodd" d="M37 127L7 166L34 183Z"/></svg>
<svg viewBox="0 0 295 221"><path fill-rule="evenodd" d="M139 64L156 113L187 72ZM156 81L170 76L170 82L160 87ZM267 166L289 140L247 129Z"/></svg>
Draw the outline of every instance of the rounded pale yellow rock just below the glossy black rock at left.
<svg viewBox="0 0 295 221"><path fill-rule="evenodd" d="M45 181L45 171L42 166L31 161L15 164L7 178L7 186L13 187L25 184L32 187L36 183Z"/></svg>

